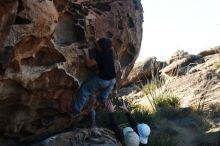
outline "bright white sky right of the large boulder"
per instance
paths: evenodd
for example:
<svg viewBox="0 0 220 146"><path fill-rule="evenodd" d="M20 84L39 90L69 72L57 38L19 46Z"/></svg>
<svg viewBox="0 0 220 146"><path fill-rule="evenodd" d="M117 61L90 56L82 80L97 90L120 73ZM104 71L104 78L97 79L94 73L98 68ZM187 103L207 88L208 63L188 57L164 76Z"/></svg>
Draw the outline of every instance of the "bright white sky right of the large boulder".
<svg viewBox="0 0 220 146"><path fill-rule="evenodd" d="M164 61L176 51L220 46L220 0L141 0L143 39L138 61Z"/></svg>

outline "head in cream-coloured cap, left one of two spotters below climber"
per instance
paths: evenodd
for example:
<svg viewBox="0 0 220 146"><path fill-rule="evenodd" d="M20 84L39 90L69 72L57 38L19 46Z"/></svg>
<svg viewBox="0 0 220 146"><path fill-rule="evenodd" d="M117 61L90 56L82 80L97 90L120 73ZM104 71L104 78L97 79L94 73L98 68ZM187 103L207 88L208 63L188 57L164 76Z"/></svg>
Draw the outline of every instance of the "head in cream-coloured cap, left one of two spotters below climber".
<svg viewBox="0 0 220 146"><path fill-rule="evenodd" d="M140 139L136 132L131 127L123 129L124 142L126 146L139 146Z"/></svg>

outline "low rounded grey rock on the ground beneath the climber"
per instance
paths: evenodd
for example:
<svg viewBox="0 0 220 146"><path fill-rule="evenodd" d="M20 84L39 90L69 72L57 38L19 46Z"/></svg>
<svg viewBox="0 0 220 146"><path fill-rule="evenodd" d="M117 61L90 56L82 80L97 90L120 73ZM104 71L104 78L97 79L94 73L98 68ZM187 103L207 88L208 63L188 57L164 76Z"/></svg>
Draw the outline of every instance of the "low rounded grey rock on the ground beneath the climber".
<svg viewBox="0 0 220 146"><path fill-rule="evenodd" d="M70 132L49 137L40 143L31 146L121 146L114 137L114 133L108 129L77 128Z"/></svg>

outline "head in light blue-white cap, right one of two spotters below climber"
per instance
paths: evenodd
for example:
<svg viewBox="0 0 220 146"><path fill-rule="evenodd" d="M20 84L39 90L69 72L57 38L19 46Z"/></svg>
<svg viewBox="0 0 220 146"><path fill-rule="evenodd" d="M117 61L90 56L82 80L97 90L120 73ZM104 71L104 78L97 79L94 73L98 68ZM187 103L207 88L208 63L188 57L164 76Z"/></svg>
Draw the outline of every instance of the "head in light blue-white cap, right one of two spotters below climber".
<svg viewBox="0 0 220 146"><path fill-rule="evenodd" d="M147 144L150 135L150 127L147 124L141 123L137 125L137 131L142 144Z"/></svg>

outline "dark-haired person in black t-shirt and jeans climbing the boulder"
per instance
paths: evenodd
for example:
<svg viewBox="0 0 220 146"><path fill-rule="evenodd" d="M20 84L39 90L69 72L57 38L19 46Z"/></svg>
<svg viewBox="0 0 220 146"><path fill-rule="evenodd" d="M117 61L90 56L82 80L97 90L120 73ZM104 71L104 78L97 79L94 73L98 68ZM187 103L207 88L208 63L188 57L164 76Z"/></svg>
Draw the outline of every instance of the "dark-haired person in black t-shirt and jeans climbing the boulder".
<svg viewBox="0 0 220 146"><path fill-rule="evenodd" d="M101 90L101 95L95 97L100 103L105 104L116 83L115 60L112 42L108 38L100 38L97 48L90 51L83 49L88 67L97 65L98 74L86 80L80 87L77 97L72 100L70 111L79 114L85 106L89 96Z"/></svg>

